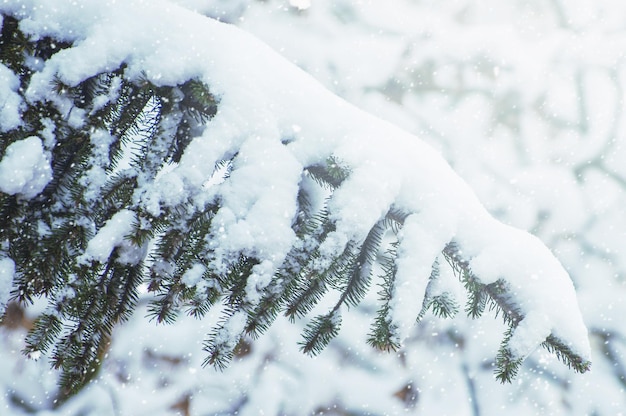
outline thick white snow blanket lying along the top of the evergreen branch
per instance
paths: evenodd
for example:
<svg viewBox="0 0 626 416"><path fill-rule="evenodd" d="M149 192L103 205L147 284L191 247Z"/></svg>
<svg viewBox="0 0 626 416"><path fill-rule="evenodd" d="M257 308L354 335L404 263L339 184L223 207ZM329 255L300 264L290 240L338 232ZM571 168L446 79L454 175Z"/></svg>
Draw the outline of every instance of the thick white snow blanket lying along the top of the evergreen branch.
<svg viewBox="0 0 626 416"><path fill-rule="evenodd" d="M473 259L470 265L483 283L506 281L527 317L511 341L516 356L555 333L589 358L587 330L563 267L537 239L493 219L441 155L418 138L334 96L250 35L169 2L152 1L150 7L142 1L115 7L94 2L80 13L70 0L54 7L36 3L22 2L32 16L23 29L34 36L72 33L68 40L74 47L32 76L29 100L52 98L55 77L75 85L122 63L128 77L146 77L156 85L195 77L219 97L218 113L168 173L179 185L167 198L149 186L140 193L148 195L154 212L155 204L190 201L201 209L219 198L212 267L228 266L241 253L256 257L260 266L246 287L250 301L259 299L255 291L263 290L294 243L291 223L306 168L333 156L351 175L328 204L336 230L322 243L327 259L350 242L363 242L390 208L409 214L391 303L400 338L415 322L431 266L454 240ZM137 15L142 19L133 18ZM235 154L230 178L207 190L216 163ZM90 242L87 259L101 261L121 244L132 213L118 215L121 221L109 221ZM110 230L115 232L108 236ZM241 329L237 323L235 332ZM233 338L224 334L224 339Z"/></svg>

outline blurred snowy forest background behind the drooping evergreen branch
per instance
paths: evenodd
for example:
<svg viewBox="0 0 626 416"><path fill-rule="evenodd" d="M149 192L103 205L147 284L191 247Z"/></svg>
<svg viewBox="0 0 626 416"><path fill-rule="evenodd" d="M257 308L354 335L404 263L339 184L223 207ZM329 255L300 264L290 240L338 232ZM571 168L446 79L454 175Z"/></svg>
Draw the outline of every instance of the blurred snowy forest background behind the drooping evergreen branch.
<svg viewBox="0 0 626 416"><path fill-rule="evenodd" d="M177 0L263 39L328 89L438 148L505 223L570 273L590 331L579 375L536 351L493 378L500 320L428 314L399 354L363 341L366 299L315 358L277 320L223 373L206 329L139 310L101 372L61 407L58 375L20 353L39 312L0 328L2 414L597 414L626 409L626 5L559 0ZM149 7L149 6L146 6ZM329 123L332 121L329 120ZM523 255L523 254L520 254ZM16 316L19 313L15 312ZM262 413L261 413L262 412Z"/></svg>

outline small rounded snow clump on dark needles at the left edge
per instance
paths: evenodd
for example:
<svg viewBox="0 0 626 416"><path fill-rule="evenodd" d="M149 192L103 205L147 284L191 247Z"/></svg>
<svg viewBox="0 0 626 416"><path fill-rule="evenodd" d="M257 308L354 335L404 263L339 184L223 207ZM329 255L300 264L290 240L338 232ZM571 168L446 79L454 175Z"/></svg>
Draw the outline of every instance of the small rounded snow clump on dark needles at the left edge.
<svg viewBox="0 0 626 416"><path fill-rule="evenodd" d="M30 199L52 179L41 139L31 136L11 143L0 160L0 191Z"/></svg>

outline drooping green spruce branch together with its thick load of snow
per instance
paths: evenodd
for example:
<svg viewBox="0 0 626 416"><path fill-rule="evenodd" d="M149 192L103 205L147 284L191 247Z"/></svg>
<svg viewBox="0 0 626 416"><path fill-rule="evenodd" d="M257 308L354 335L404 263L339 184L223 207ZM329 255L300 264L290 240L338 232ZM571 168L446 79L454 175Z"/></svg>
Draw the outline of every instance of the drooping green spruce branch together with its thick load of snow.
<svg viewBox="0 0 626 416"><path fill-rule="evenodd" d="M19 88L0 91L19 96L21 111L0 108L0 121L8 120L0 127L19 143L0 164L37 140L53 171L45 189L2 195L5 207L38 221L24 229L28 238L9 239L2 256L17 265L16 298L49 295L68 321L59 366L83 338L95 345L84 356L97 358L98 342L136 297L144 262L158 320L184 307L202 316L221 301L223 320L205 346L217 365L278 313L306 315L339 291L339 303L305 331L304 349L316 352L337 333L341 308L357 304L376 278L371 266L390 237L376 321L387 326L377 332L386 339L377 345L401 345L409 335L445 256L475 300L468 312L493 302L510 325L501 379L540 345L588 369L574 287L550 251L490 216L429 145L334 96L265 44L159 0L80 9L69 0L24 1L0 11L19 21L25 41L46 48L15 54L31 72ZM17 77L20 63L3 65ZM69 254L49 266L48 278L29 269L43 260L19 258L38 250L33 242L57 241ZM114 300L82 311L96 290ZM83 323L99 313L103 328ZM28 348L49 343L33 335Z"/></svg>

